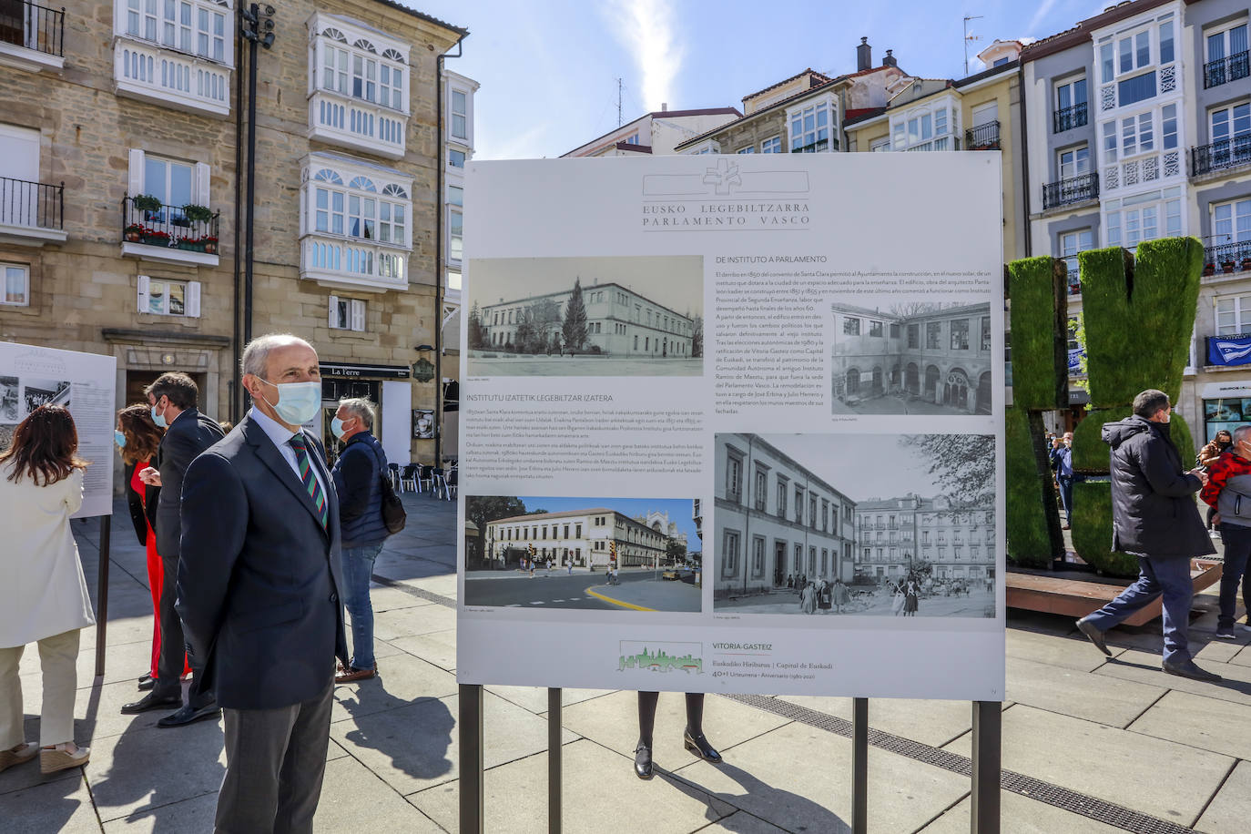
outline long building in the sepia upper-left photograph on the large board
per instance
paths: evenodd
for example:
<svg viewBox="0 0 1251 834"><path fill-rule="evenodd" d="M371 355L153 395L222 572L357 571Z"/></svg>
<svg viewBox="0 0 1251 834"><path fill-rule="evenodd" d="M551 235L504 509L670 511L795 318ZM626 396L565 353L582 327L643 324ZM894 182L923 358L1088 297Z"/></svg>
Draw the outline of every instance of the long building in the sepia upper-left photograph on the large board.
<svg viewBox="0 0 1251 834"><path fill-rule="evenodd" d="M518 328L530 324L547 344L564 343L562 323L573 288L512 301L482 305L485 344L505 348L517 344ZM582 288L587 309L587 344L612 356L689 359L694 319L658 304L615 283Z"/></svg>

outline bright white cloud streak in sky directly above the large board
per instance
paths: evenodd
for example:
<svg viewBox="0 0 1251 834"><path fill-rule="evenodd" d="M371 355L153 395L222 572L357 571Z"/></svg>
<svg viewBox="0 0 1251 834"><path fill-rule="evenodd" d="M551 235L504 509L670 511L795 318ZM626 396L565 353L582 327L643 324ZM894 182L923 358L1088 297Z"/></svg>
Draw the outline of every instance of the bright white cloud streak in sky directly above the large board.
<svg viewBox="0 0 1251 834"><path fill-rule="evenodd" d="M638 89L648 110L671 103L673 80L682 69L683 50L677 43L672 0L627 0L609 6L609 25L629 51L642 79Z"/></svg>

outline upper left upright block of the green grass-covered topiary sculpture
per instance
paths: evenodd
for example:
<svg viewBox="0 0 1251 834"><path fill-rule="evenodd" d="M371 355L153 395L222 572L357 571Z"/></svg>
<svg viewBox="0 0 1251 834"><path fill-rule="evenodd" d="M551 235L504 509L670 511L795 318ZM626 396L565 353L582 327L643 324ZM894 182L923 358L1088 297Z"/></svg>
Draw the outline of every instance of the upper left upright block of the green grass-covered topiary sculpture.
<svg viewBox="0 0 1251 834"><path fill-rule="evenodd" d="M1008 264L1012 311L1012 404L1020 409L1063 408L1068 401L1065 263L1026 258Z"/></svg>

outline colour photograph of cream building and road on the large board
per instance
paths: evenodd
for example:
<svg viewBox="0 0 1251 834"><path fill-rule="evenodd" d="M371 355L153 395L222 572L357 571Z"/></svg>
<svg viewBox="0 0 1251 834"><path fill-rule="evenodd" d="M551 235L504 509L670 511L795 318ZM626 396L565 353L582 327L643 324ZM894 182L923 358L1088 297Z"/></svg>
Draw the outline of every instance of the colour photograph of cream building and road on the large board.
<svg viewBox="0 0 1251 834"><path fill-rule="evenodd" d="M698 504L465 496L465 605L698 611Z"/></svg>

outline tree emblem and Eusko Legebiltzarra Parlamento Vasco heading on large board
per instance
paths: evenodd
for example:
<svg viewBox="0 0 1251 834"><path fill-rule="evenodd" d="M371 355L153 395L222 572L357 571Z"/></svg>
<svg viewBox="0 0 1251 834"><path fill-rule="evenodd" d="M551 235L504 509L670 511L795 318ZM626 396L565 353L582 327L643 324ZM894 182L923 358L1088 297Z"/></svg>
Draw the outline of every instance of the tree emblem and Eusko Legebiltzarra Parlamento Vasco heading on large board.
<svg viewBox="0 0 1251 834"><path fill-rule="evenodd" d="M647 231L806 230L808 193L807 171L752 171L722 156L702 174L644 175L641 220Z"/></svg>

